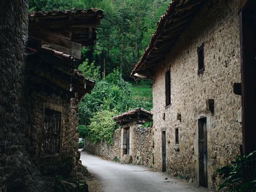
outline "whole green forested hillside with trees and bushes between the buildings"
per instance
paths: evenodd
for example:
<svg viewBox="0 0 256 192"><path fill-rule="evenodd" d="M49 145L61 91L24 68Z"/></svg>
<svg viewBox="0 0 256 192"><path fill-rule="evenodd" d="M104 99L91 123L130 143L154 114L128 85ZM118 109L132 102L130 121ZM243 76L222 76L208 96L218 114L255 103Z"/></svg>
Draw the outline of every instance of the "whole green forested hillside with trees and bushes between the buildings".
<svg viewBox="0 0 256 192"><path fill-rule="evenodd" d="M151 81L136 84L130 73L169 3L170 0L30 0L30 12L104 10L97 44L83 47L78 67L87 78L96 80L92 93L79 103L79 133L83 138L112 142L116 126L113 116L136 107L151 110Z"/></svg>

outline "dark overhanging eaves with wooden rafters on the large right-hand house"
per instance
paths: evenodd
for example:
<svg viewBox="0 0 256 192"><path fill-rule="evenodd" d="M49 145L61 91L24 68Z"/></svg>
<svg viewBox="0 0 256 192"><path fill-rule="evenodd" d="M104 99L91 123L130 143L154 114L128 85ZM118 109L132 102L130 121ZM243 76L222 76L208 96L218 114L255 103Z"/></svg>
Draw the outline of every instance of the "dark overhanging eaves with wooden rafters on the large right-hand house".
<svg viewBox="0 0 256 192"><path fill-rule="evenodd" d="M173 0L170 3L158 22L157 30L151 36L149 46L134 66L131 77L139 73L147 79L154 79L156 65L175 45L181 32L191 23L204 2L206 0Z"/></svg>

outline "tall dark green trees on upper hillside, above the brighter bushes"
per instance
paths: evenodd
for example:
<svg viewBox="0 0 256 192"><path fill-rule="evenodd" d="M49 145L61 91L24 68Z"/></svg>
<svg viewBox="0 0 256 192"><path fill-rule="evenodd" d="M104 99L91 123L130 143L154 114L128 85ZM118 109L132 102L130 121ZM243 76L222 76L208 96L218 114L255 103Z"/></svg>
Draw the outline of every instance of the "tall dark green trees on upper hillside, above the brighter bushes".
<svg viewBox="0 0 256 192"><path fill-rule="evenodd" d="M102 24L97 30L96 46L83 50L83 60L95 61L100 67L100 75L119 67L125 80L137 63L154 30L171 0L30 0L30 11L88 9L104 10ZM105 61L105 62L104 62Z"/></svg>

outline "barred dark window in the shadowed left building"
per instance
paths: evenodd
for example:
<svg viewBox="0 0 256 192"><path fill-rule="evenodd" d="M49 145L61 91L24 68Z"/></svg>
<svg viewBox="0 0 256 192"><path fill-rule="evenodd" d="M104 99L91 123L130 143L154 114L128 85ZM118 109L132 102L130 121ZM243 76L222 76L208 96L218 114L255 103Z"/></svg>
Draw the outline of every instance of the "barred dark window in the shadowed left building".
<svg viewBox="0 0 256 192"><path fill-rule="evenodd" d="M61 113L44 108L44 134L42 138L41 156L55 156L60 150Z"/></svg>

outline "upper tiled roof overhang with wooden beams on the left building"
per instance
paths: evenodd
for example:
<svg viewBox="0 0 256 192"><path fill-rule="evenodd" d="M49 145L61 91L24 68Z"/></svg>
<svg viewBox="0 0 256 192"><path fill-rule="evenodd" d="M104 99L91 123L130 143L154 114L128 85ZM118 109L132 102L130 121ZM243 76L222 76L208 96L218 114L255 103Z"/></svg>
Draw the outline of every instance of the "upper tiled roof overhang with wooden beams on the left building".
<svg viewBox="0 0 256 192"><path fill-rule="evenodd" d="M96 44L96 29L103 17L100 9L33 12L29 14L29 36L80 59L83 45Z"/></svg>

